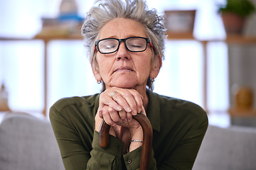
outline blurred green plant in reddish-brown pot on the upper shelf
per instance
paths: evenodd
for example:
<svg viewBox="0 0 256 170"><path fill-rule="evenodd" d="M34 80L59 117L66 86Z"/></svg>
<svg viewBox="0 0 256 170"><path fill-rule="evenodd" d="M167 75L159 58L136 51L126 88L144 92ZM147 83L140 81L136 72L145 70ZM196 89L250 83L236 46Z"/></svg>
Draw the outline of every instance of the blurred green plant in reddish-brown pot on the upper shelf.
<svg viewBox="0 0 256 170"><path fill-rule="evenodd" d="M218 8L227 34L242 33L245 19L254 11L255 6L250 0L227 0L227 4Z"/></svg>

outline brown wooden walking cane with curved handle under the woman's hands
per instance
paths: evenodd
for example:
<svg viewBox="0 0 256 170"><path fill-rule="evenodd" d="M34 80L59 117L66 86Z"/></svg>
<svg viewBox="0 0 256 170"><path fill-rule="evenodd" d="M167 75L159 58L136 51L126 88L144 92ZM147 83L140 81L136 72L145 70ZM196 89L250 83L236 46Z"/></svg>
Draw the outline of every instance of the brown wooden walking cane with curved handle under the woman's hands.
<svg viewBox="0 0 256 170"><path fill-rule="evenodd" d="M137 120L140 125L142 125L143 130L143 143L142 143L142 155L140 160L140 170L148 170L149 162L151 157L151 146L152 146L152 138L153 138L153 130L151 127L151 123L149 119L146 118L146 115L143 113L138 113L137 115L133 115L132 118ZM110 133L110 125L107 125L105 121L102 121L102 125L100 126L100 147L107 148L109 145L109 133Z"/></svg>

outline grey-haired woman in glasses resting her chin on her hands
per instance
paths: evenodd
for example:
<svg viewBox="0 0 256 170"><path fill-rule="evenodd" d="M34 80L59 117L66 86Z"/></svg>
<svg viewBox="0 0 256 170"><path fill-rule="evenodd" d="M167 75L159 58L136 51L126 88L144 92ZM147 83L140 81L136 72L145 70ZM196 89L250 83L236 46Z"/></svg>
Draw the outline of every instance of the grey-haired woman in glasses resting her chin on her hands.
<svg viewBox="0 0 256 170"><path fill-rule="evenodd" d="M82 26L101 94L63 98L50 121L65 169L139 169L144 113L153 128L150 169L192 169L208 127L194 103L152 92L164 58L163 18L143 0L97 1ZM99 145L102 120L110 146Z"/></svg>

